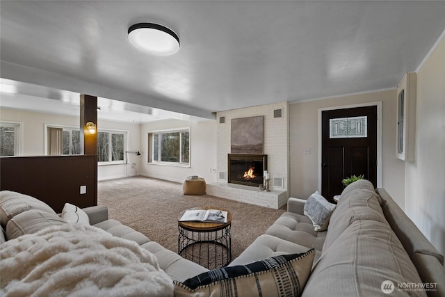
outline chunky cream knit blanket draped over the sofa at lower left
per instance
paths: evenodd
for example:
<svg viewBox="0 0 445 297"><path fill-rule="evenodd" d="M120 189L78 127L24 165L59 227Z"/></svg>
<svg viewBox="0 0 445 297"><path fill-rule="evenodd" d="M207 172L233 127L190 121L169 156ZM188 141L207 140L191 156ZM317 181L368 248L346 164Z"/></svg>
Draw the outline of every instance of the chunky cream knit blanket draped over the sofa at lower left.
<svg viewBox="0 0 445 297"><path fill-rule="evenodd" d="M173 282L136 242L64 224L0 245L0 296L173 296Z"/></svg>

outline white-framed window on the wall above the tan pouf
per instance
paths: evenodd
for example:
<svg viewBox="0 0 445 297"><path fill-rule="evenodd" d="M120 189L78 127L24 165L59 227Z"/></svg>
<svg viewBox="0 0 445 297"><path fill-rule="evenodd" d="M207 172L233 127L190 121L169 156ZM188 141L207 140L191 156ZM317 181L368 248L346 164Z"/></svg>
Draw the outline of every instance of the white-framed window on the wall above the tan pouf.
<svg viewBox="0 0 445 297"><path fill-rule="evenodd" d="M149 162L190 164L190 129L157 131L148 134Z"/></svg>

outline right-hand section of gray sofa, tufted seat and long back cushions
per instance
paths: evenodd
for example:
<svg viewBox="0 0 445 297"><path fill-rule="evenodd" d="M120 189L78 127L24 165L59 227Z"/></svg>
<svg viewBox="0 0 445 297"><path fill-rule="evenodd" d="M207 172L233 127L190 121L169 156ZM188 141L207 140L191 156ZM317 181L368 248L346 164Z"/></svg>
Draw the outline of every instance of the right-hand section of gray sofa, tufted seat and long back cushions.
<svg viewBox="0 0 445 297"><path fill-rule="evenodd" d="M350 184L323 232L303 214L305 203L289 198L287 212L230 265L315 248L302 296L386 296L387 280L389 296L445 296L444 255L385 189Z"/></svg>

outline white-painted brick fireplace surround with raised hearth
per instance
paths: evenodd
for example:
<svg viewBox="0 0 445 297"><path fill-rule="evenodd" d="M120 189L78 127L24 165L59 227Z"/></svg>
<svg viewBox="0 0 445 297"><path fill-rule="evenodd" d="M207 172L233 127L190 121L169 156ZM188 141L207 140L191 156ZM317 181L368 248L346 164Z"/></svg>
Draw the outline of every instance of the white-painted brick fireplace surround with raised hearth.
<svg viewBox="0 0 445 297"><path fill-rule="evenodd" d="M289 193L289 104L280 102L244 109L218 111L216 133L216 182L207 183L206 193L230 200L278 209L286 204ZM279 111L279 112L277 112ZM231 121L236 118L264 116L264 152L270 173L270 192L261 191L257 184L234 184L228 167L231 151ZM261 176L262 182L262 174Z"/></svg>

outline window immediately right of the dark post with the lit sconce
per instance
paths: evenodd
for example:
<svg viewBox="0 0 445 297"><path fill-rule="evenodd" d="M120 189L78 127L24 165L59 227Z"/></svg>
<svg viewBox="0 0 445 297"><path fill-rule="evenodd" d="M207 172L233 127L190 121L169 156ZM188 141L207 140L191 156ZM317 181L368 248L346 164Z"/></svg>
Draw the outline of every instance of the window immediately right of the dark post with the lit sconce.
<svg viewBox="0 0 445 297"><path fill-rule="evenodd" d="M125 131L97 132L97 161L123 163L126 141Z"/></svg>

